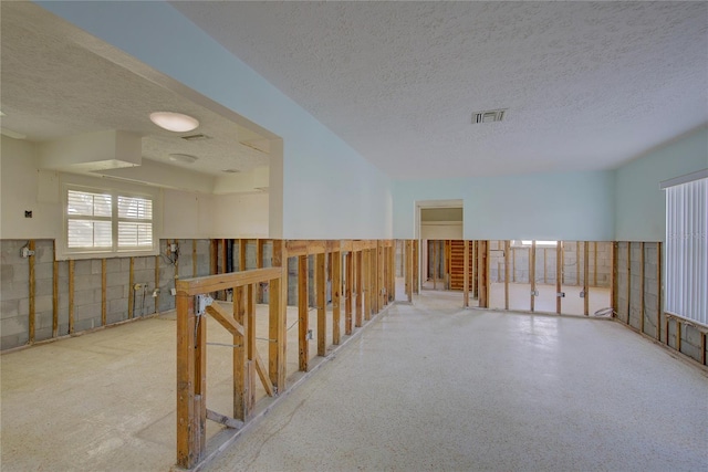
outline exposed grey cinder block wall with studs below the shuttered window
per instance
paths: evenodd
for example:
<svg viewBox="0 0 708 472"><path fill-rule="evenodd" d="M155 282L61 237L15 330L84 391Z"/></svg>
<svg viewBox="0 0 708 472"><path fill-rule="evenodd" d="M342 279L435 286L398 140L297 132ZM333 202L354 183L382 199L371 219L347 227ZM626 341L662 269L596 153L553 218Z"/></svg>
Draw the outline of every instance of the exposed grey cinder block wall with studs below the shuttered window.
<svg viewBox="0 0 708 472"><path fill-rule="evenodd" d="M176 261L171 255L166 255L168 241L178 243ZM2 350L30 343L30 259L20 255L25 244L28 241L24 240L0 241ZM158 256L75 261L54 261L52 240L35 240L34 244L34 342L102 326L104 291L106 325L128 319L131 315L137 318L173 310L175 297L170 289L175 286L175 279L208 275L210 271L209 240L196 240L196 245L192 245L192 240L162 240L162 255ZM105 287L102 275L104 261ZM70 275L72 272L73 280ZM135 284L145 289L134 290ZM157 296L153 296L155 289L158 289ZM73 326L70 326L70 314L73 314Z"/></svg>

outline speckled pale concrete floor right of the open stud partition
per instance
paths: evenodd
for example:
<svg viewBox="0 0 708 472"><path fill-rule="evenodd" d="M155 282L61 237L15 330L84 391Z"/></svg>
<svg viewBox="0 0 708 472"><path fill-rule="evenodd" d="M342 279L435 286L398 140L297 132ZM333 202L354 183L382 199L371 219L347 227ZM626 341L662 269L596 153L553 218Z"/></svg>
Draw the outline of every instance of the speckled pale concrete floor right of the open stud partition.
<svg viewBox="0 0 708 472"><path fill-rule="evenodd" d="M394 306L206 470L708 470L699 368L610 321L442 302Z"/></svg>

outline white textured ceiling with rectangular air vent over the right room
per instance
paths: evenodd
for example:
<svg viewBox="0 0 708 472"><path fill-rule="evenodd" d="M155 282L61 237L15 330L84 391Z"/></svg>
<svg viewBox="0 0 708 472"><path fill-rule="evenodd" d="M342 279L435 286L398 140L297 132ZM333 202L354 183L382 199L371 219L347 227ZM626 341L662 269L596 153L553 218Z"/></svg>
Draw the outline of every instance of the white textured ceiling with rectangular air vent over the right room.
<svg viewBox="0 0 708 472"><path fill-rule="evenodd" d="M395 178L612 168L708 122L706 2L173 6Z"/></svg>

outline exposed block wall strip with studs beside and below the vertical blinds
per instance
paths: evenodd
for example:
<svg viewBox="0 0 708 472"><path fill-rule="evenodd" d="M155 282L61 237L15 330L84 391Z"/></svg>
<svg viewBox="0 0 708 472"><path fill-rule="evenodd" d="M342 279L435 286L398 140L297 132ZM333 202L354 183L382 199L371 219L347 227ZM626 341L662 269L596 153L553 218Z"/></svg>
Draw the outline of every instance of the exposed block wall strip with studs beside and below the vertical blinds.
<svg viewBox="0 0 708 472"><path fill-rule="evenodd" d="M702 363L708 356L705 334L681 323L677 339L679 322L667 319L663 312L662 243L617 242L615 251L616 319Z"/></svg>

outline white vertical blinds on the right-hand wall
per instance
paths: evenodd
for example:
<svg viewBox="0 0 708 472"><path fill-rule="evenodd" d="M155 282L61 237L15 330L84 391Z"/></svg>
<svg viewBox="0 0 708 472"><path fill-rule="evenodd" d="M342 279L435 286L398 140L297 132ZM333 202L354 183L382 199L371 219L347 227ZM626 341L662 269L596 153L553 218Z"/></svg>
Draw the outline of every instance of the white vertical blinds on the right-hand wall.
<svg viewBox="0 0 708 472"><path fill-rule="evenodd" d="M666 311L708 325L708 178L666 187Z"/></svg>

